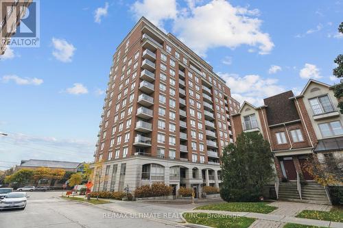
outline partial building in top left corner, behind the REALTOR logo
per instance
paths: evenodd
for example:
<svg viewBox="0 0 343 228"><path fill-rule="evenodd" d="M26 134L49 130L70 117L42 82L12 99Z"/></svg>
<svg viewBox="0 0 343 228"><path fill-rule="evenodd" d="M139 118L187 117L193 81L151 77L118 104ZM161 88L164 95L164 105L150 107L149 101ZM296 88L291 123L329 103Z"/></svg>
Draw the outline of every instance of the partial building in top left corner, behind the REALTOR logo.
<svg viewBox="0 0 343 228"><path fill-rule="evenodd" d="M20 3L28 7L32 0L12 0L12 7L3 8L3 2L8 5L10 0L0 1L0 55L6 50L7 41L20 23L20 19L25 16L26 8L21 8ZM22 10L23 9L23 10Z"/></svg>

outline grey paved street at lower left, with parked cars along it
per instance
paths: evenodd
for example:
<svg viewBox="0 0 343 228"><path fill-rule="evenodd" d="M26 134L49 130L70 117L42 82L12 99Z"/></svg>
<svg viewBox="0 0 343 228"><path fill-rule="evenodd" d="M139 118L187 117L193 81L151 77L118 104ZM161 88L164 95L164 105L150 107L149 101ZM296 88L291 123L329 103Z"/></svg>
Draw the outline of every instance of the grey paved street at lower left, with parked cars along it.
<svg viewBox="0 0 343 228"><path fill-rule="evenodd" d="M0 212L1 228L182 227L150 218L132 218L101 207L60 199L61 192L28 192L25 210ZM109 203L106 206L110 206ZM104 218L104 216L109 218Z"/></svg>

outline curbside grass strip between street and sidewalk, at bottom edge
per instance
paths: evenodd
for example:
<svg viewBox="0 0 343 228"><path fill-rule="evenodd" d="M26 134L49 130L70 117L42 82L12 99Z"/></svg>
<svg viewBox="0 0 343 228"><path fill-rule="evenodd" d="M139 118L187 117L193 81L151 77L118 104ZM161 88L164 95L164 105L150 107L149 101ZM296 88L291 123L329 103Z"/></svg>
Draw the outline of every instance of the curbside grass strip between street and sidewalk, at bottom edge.
<svg viewBox="0 0 343 228"><path fill-rule="evenodd" d="M255 221L255 218L234 218L232 216L225 217L225 215L206 213L184 213L182 216L187 220L188 223L217 228L247 228Z"/></svg>

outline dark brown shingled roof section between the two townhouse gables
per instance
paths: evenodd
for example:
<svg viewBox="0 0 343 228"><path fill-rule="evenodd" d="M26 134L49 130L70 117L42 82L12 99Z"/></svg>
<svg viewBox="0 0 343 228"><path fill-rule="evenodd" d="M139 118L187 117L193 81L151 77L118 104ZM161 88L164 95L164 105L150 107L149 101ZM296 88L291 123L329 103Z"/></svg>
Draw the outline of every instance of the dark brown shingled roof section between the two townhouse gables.
<svg viewBox="0 0 343 228"><path fill-rule="evenodd" d="M299 119L294 101L289 99L289 97L294 97L292 90L264 99L264 104L268 106L265 110L267 112L269 125L276 125Z"/></svg>

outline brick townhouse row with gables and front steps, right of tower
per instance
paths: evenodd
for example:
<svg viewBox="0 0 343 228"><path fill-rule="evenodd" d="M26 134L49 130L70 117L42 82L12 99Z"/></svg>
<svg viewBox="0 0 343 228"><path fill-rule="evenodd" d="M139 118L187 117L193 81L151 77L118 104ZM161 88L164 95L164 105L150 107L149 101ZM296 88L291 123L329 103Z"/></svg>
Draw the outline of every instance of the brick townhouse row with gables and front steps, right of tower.
<svg viewBox="0 0 343 228"><path fill-rule="evenodd" d="M233 115L236 136L259 131L270 142L279 198L329 201L326 190L312 181L305 162L309 155L318 155L324 164L335 161L342 170L343 116L337 105L332 87L311 79L296 97L287 91L264 99L261 107L244 102ZM286 179L288 183L281 182ZM309 185L301 189L300 179Z"/></svg>

